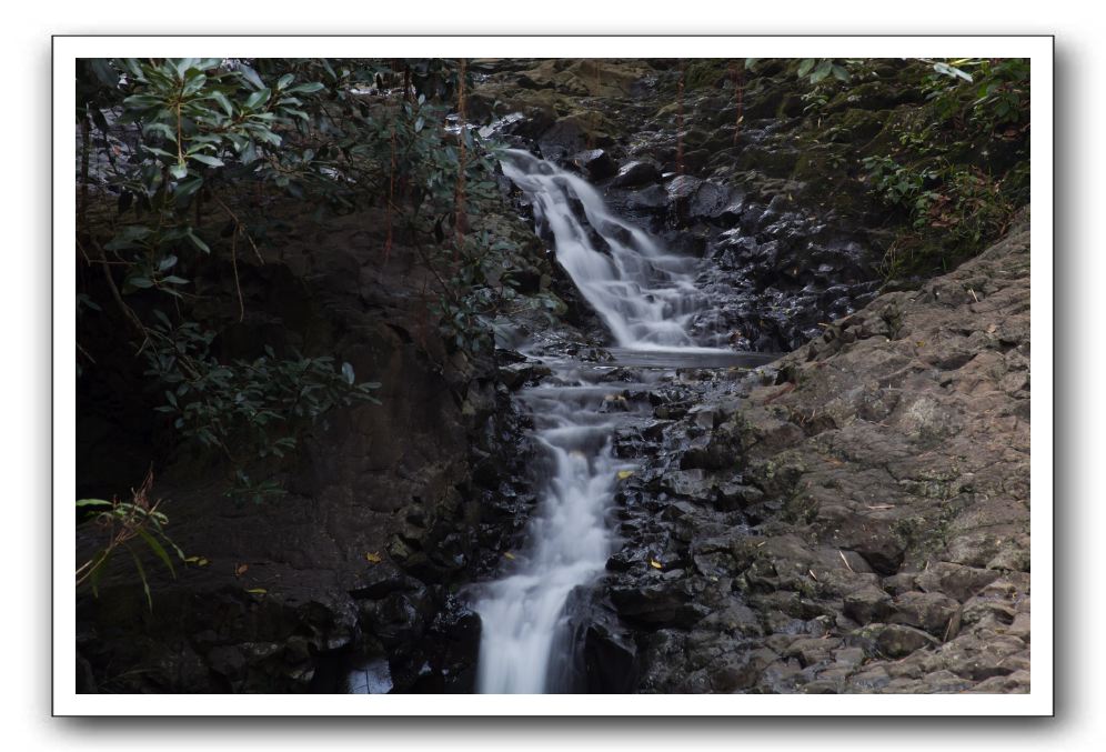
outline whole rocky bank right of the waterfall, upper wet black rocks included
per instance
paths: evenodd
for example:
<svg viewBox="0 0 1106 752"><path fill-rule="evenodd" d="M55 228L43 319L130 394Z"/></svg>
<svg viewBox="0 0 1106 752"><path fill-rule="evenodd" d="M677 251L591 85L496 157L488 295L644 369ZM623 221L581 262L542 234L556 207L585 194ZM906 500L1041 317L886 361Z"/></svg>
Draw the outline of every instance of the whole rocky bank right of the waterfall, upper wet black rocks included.
<svg viewBox="0 0 1106 752"><path fill-rule="evenodd" d="M717 66L687 90L671 61L487 68L489 98L527 116L507 132L710 259L704 332L796 349L622 393L654 420L619 438L644 463L623 547L569 605L580 688L1027 691L1027 225L878 295L896 230L855 166L917 92L858 87L812 140L780 70L737 122Z"/></svg>

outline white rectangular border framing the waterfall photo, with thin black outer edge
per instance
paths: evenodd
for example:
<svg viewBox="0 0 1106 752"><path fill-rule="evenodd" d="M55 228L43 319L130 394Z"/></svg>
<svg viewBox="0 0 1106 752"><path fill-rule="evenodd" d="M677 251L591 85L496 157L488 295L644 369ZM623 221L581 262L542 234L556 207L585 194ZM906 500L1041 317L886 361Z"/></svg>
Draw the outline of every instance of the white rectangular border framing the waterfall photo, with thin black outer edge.
<svg viewBox="0 0 1106 752"><path fill-rule="evenodd" d="M53 38L53 714L54 715L882 715L1054 714L1054 39L1050 36L58 36ZM735 52L740 52L737 56ZM368 53L368 54L366 54ZM1030 578L1028 694L955 695L99 695L76 692L74 61L107 57L1008 58L1030 60Z"/></svg>

